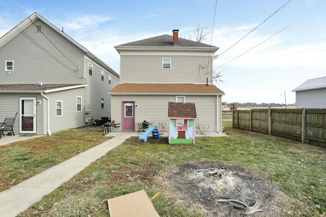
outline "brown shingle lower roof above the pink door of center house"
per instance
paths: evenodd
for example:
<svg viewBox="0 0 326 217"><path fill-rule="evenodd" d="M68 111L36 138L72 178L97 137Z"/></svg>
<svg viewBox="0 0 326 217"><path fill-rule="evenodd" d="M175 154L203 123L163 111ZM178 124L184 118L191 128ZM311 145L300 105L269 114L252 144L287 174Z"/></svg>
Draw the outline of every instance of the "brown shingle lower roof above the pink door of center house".
<svg viewBox="0 0 326 217"><path fill-rule="evenodd" d="M224 94L222 90L214 85L205 84L118 84L111 93L199 93L199 94Z"/></svg>

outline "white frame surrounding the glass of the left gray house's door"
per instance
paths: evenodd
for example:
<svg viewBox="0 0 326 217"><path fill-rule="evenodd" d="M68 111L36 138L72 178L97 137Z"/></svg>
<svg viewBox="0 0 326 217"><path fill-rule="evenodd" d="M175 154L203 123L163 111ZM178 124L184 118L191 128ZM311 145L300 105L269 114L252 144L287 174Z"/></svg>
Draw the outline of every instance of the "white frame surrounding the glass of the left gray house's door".
<svg viewBox="0 0 326 217"><path fill-rule="evenodd" d="M26 109L25 106L22 106L23 100L33 100L33 111L29 111L29 114L26 114L26 110L23 112L22 109ZM33 130L32 131L23 131L22 130L22 120L23 117L33 117ZM31 133L36 134L36 97L19 97L19 133Z"/></svg>

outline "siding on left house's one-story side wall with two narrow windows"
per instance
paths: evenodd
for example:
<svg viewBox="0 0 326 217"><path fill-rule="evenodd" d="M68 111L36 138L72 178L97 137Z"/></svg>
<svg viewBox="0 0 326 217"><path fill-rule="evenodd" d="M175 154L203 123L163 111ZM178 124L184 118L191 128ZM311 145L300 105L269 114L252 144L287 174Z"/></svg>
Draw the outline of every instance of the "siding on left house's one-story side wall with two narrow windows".
<svg viewBox="0 0 326 217"><path fill-rule="evenodd" d="M84 111L76 111L76 97L82 97L84 105L84 88L75 88L44 94L50 103L51 133L84 126ZM56 101L62 101L62 116L56 117ZM44 126L46 122L44 122Z"/></svg>

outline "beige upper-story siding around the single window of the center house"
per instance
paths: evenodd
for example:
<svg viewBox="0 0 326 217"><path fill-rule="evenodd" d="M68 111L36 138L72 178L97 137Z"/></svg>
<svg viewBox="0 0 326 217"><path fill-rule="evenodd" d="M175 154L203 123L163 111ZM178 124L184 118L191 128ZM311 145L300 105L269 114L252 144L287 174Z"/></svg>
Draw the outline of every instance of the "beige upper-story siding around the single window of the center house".
<svg viewBox="0 0 326 217"><path fill-rule="evenodd" d="M171 58L171 69L162 69L162 58ZM121 83L211 83L211 57L191 55L121 55ZM200 64L204 69L200 67Z"/></svg>

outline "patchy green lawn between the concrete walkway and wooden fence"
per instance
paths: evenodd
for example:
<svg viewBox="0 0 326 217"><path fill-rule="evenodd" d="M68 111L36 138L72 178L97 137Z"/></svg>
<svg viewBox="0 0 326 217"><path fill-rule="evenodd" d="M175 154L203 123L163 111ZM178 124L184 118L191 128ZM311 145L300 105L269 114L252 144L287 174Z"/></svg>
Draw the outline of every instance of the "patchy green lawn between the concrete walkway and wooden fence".
<svg viewBox="0 0 326 217"><path fill-rule="evenodd" d="M195 145L169 145L168 138L132 137L78 173L19 216L108 216L106 199L145 189L161 189L153 180L175 164L216 161L241 166L273 179L291 201L284 216L323 216L326 213L326 150L283 138L240 131L227 126L227 137L197 137ZM35 148L40 144L33 143ZM26 148L23 144L17 151ZM55 145L53 145L55 148ZM51 150L46 150L51 155ZM22 158L38 158L20 156ZM30 161L31 159L29 159ZM40 165L46 165L40 162ZM10 166L9 166L10 167ZM15 170L15 166L12 167ZM160 216L204 216L168 200L164 192L153 201Z"/></svg>

